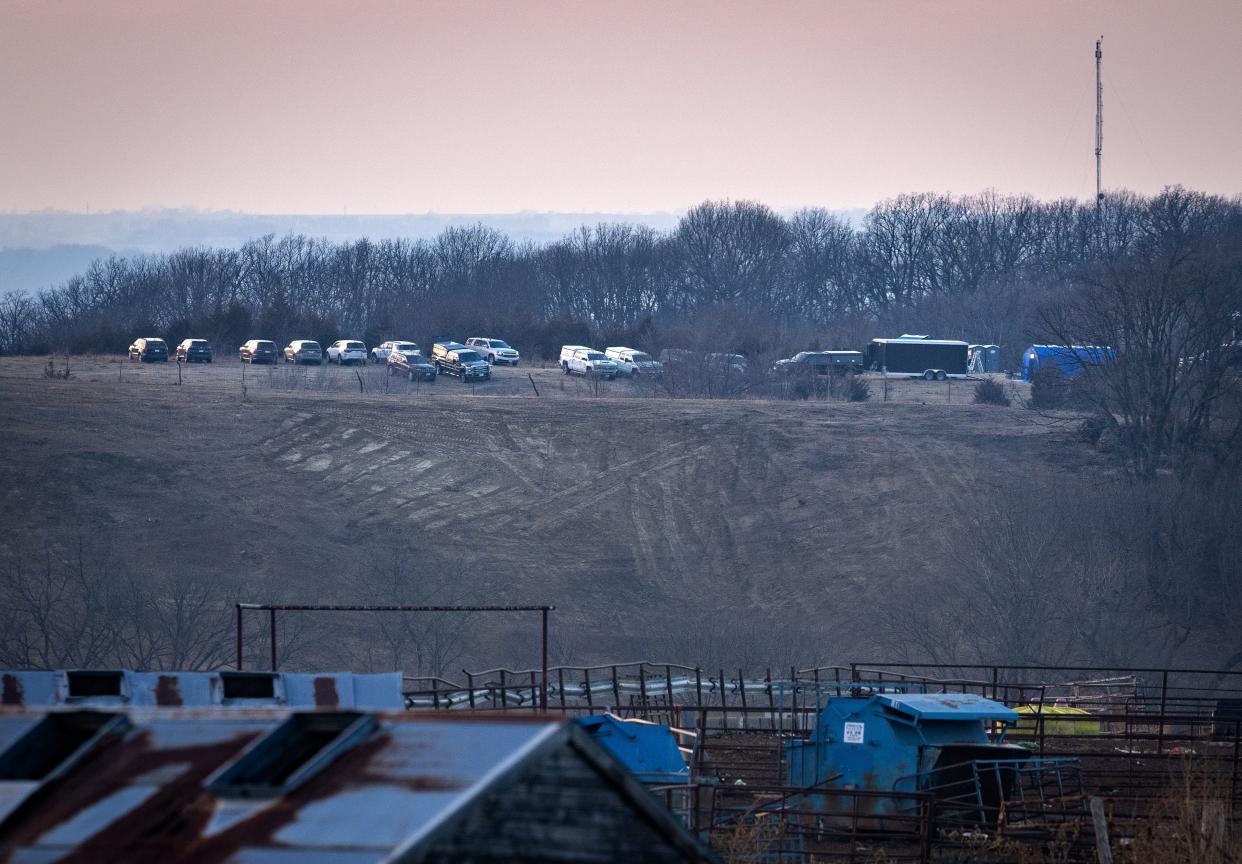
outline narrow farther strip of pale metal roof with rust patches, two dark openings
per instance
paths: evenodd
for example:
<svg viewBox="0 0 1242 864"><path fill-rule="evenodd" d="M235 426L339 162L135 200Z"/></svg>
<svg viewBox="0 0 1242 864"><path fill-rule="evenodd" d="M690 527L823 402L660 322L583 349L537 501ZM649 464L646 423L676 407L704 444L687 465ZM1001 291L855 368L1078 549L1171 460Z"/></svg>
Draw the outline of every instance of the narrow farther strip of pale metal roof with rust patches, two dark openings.
<svg viewBox="0 0 1242 864"><path fill-rule="evenodd" d="M401 674L134 672L58 669L0 673L0 705L324 708L397 710Z"/></svg>

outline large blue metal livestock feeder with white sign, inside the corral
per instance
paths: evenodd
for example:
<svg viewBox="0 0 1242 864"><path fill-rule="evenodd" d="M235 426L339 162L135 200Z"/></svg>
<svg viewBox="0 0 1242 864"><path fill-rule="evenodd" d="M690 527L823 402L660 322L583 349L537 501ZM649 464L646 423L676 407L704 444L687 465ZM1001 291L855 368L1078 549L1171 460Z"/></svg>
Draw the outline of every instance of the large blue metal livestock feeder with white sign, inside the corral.
<svg viewBox="0 0 1242 864"><path fill-rule="evenodd" d="M867 816L905 813L909 799L833 794L832 790L930 792L938 813L968 822L995 822L1032 762L1026 747L1004 744L1018 714L969 693L873 693L832 698L811 736L785 749L787 782L807 790L821 812ZM995 736L997 740L994 740Z"/></svg>

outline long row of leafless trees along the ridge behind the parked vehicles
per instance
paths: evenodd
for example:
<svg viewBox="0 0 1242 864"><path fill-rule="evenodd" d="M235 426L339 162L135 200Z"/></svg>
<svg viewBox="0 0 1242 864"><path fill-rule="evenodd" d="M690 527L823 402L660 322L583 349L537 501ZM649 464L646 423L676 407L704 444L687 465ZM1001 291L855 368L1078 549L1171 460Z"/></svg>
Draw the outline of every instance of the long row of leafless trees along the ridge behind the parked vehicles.
<svg viewBox="0 0 1242 864"><path fill-rule="evenodd" d="M601 223L544 246L481 225L431 241L266 236L99 259L37 295L6 295L0 353L122 351L138 335L231 350L251 338L492 334L551 358L563 343L693 348L709 333L714 350L769 355L915 331L996 343L1016 365L1058 287L1100 290L1077 277L1154 233L1236 246L1240 223L1240 200L1172 189L1115 194L1098 211L995 192L903 195L858 227L826 210L782 217L707 201L669 232Z"/></svg>

